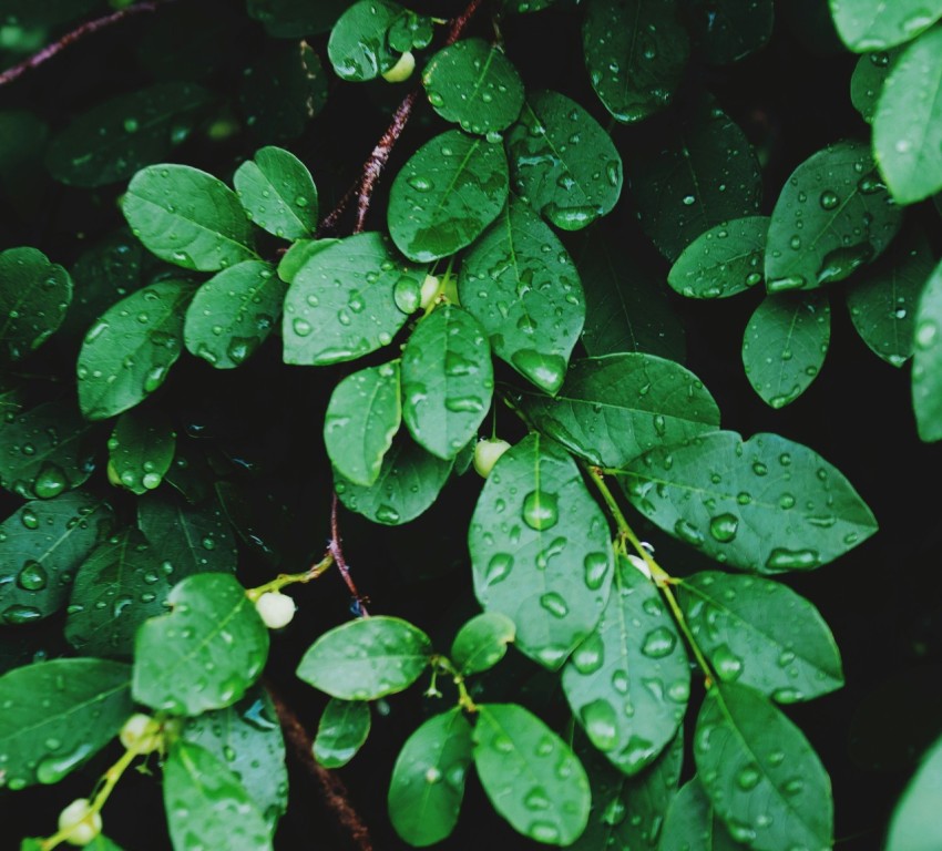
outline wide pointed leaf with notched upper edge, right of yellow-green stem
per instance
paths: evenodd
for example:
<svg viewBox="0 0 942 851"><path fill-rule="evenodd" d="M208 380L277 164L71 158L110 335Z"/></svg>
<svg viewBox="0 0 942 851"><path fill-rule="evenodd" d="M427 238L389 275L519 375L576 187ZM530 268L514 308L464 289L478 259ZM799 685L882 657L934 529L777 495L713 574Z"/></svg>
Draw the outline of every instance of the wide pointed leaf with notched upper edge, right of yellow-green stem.
<svg viewBox="0 0 942 851"><path fill-rule="evenodd" d="M668 534L745 571L810 571L877 531L847 479L778 434L733 431L633 461L625 491Z"/></svg>

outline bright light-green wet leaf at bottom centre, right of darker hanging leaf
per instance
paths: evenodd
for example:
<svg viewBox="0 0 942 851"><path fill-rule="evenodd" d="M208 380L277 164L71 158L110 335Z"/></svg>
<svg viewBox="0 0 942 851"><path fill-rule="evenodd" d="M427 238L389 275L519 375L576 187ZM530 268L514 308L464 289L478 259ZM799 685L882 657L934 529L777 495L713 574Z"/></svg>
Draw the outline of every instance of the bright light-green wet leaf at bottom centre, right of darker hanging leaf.
<svg viewBox="0 0 942 851"><path fill-rule="evenodd" d="M574 842L588 821L585 769L555 732L515 704L479 704L474 767L494 809L520 833Z"/></svg>

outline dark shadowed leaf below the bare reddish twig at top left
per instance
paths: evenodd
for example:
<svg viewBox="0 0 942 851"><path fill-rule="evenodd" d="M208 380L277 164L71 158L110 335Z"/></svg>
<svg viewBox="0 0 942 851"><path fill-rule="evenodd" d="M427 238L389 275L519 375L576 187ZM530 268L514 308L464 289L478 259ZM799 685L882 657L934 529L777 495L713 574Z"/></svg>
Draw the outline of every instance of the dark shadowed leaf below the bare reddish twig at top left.
<svg viewBox="0 0 942 851"><path fill-rule="evenodd" d="M185 142L212 100L202 86L178 81L111 98L52 140L49 171L73 186L123 181Z"/></svg>

